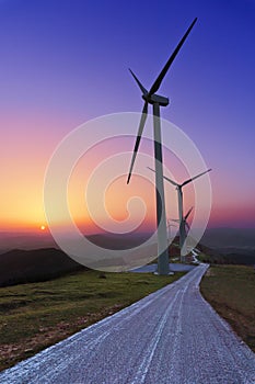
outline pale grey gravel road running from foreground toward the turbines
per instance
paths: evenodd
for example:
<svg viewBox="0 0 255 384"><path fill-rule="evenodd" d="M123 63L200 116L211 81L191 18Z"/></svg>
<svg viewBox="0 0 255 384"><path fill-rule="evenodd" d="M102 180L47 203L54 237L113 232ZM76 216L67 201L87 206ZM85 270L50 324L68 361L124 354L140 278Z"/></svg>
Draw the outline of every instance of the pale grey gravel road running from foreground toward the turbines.
<svg viewBox="0 0 255 384"><path fill-rule="evenodd" d="M255 354L199 293L208 266L0 374L0 383L255 383Z"/></svg>

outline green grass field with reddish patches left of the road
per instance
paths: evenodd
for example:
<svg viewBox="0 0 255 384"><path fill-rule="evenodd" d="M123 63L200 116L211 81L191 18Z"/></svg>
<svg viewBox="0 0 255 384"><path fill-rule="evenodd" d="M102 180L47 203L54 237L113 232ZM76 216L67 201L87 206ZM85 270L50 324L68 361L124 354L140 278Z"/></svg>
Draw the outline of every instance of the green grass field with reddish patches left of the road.
<svg viewBox="0 0 255 384"><path fill-rule="evenodd" d="M0 289L0 370L130 305L173 276L79 272Z"/></svg>

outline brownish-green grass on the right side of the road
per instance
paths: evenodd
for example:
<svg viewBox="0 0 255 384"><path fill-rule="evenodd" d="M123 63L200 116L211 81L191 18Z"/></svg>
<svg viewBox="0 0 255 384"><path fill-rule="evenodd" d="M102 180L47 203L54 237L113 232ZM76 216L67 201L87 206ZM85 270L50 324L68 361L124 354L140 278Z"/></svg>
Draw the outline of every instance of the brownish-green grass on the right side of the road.
<svg viewBox="0 0 255 384"><path fill-rule="evenodd" d="M211 267L201 281L201 293L255 351L255 272L252 267Z"/></svg>

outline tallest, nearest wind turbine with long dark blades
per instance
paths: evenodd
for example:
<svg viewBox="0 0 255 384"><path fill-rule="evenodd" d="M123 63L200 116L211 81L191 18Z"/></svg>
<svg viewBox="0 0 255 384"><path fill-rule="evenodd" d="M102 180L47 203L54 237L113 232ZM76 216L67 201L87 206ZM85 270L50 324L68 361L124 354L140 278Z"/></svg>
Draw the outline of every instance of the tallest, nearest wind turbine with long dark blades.
<svg viewBox="0 0 255 384"><path fill-rule="evenodd" d="M169 247L167 247L167 235L166 235L166 217L165 217L165 201L164 201L164 185L163 185L163 169L162 169L162 147L161 147L161 122L160 122L160 106L169 105L169 99L157 94L170 66L174 61L176 55L178 54L182 45L187 38L189 32L192 31L197 18L193 21L183 38L179 41L173 54L170 56L165 66L161 70L160 75L151 86L148 91L142 83L138 80L136 75L130 70L134 79L136 80L138 87L142 92L142 99L144 100L144 105L142 109L141 120L138 128L137 139L134 148L134 154L131 158L131 163L129 168L129 174L127 183L129 183L137 153L139 149L141 135L146 125L148 104L153 106L153 126L154 126L154 158L155 158L155 193L157 193L157 226L158 226L158 273L169 274Z"/></svg>

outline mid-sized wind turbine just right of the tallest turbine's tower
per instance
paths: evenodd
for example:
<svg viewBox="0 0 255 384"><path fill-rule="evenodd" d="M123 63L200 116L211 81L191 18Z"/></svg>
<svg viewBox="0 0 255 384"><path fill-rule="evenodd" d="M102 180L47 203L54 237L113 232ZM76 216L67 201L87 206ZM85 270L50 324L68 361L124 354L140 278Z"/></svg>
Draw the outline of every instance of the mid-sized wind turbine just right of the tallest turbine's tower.
<svg viewBox="0 0 255 384"><path fill-rule="evenodd" d="M148 167L151 171L155 172L152 168ZM183 216L183 187L189 184L192 181L200 178L202 174L210 172L211 169L208 169L205 172L201 172L197 176L194 176L193 178L185 180L182 184L176 183L176 181L166 178L166 176L163 176L163 178L165 180L167 180L171 184L176 187L177 190L177 194L178 194L178 223L179 223L179 249L181 249L181 261L185 262L185 256L186 256L186 250L184 249L184 242L185 239L187 237L186 234L186 224L185 224L185 217L190 214L192 210L189 210L190 212L188 212L188 215Z"/></svg>

